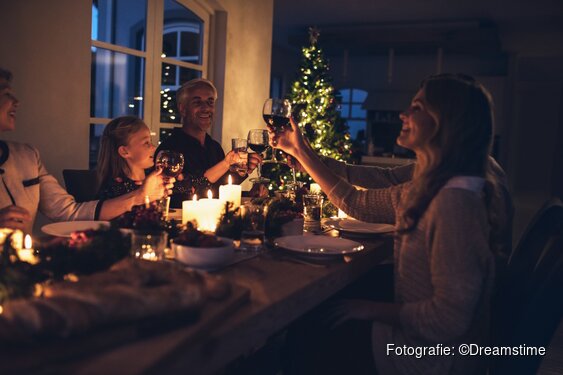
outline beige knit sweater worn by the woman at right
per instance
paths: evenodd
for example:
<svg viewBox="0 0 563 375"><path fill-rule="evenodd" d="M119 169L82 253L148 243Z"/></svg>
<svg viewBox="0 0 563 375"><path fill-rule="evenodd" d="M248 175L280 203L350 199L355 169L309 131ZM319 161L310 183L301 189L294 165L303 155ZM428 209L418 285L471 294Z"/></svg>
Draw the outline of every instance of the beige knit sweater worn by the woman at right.
<svg viewBox="0 0 563 375"><path fill-rule="evenodd" d="M464 177L455 177L454 179ZM452 180L450 180L452 182ZM463 185L463 184L462 184ZM395 238L395 299L400 324L374 323L373 350L382 374L476 374L484 358L387 355L387 344L429 347L483 344L488 340L494 257L480 189L448 183L430 203L416 228ZM370 222L395 223L409 183L356 190L341 180L329 199Z"/></svg>

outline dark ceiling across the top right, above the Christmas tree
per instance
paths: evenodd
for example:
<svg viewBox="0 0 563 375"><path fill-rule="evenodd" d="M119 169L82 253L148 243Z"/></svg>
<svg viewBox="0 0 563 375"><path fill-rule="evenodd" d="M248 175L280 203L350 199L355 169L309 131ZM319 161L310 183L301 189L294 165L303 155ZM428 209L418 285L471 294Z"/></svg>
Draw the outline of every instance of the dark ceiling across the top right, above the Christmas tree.
<svg viewBox="0 0 563 375"><path fill-rule="evenodd" d="M306 44L313 25L327 54L491 55L513 33L563 33L563 0L275 0L277 47Z"/></svg>

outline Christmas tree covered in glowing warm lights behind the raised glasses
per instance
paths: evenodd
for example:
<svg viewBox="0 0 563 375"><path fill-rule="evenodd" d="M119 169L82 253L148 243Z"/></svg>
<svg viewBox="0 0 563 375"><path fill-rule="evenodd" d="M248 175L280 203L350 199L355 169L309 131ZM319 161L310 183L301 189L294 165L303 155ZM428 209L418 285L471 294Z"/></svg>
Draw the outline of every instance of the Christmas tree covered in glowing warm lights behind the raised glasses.
<svg viewBox="0 0 563 375"><path fill-rule="evenodd" d="M302 48L303 60L299 77L291 85L287 99L291 102L292 114L299 128L309 140L313 150L321 156L336 160L349 160L352 143L348 126L340 117L338 97L332 86L329 64L323 51L317 46L319 31L309 28L310 45ZM289 168L270 164L264 175L271 179L269 189L284 189L293 181ZM296 173L297 181L312 182L309 175Z"/></svg>

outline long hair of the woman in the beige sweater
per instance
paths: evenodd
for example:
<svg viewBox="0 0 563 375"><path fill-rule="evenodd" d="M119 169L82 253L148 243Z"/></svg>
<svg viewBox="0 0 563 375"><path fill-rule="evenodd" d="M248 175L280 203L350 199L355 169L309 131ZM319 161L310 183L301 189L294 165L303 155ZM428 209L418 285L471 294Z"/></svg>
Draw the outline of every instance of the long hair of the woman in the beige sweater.
<svg viewBox="0 0 563 375"><path fill-rule="evenodd" d="M492 147L493 104L491 95L479 82L465 75L441 74L428 77L420 88L428 110L437 114L438 123L425 148L428 155L415 168L403 211L402 232L417 225L450 178L488 177Z"/></svg>

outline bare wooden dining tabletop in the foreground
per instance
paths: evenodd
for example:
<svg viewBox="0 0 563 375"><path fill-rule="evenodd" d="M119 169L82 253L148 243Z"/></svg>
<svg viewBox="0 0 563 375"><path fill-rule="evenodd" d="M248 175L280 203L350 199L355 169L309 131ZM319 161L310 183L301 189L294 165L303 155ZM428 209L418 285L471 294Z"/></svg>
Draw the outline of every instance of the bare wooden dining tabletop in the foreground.
<svg viewBox="0 0 563 375"><path fill-rule="evenodd" d="M319 235L337 238L340 233L327 230ZM221 309L221 314L204 309L199 320L191 324L125 340L120 345L79 350L79 355L46 362L37 372L47 368L73 374L216 373L263 346L272 335L374 267L391 261L392 235L354 241L364 249L326 259L295 256L269 246L213 272L235 287L236 299L228 309ZM57 350L66 350L64 343Z"/></svg>

